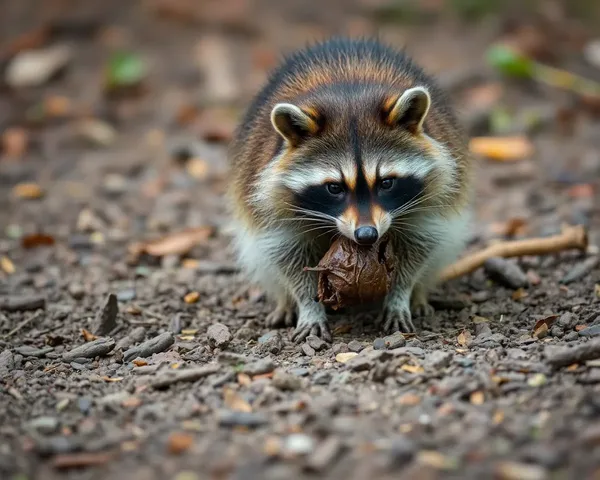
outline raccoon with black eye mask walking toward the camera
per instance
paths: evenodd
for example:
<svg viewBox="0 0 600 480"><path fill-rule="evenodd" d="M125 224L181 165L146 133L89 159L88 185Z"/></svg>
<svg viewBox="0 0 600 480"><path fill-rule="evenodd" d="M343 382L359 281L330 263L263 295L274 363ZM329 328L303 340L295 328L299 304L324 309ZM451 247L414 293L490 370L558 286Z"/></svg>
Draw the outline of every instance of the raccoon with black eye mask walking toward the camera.
<svg viewBox="0 0 600 480"><path fill-rule="evenodd" d="M470 163L446 96L403 51L334 38L285 58L230 151L234 247L276 302L268 326L331 340L316 276L303 267L337 236L370 245L387 234L396 278L379 321L385 333L413 332L413 316L433 314L437 274L465 244Z"/></svg>

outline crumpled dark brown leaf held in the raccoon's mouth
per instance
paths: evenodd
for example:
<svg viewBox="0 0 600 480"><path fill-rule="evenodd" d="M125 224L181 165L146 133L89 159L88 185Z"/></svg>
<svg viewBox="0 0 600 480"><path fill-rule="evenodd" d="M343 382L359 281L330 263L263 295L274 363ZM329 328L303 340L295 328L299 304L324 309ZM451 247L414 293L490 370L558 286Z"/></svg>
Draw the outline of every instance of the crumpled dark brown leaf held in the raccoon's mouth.
<svg viewBox="0 0 600 480"><path fill-rule="evenodd" d="M360 247L340 237L323 256L319 272L318 299L334 310L384 298L392 284L394 264L391 242L382 239L371 247Z"/></svg>

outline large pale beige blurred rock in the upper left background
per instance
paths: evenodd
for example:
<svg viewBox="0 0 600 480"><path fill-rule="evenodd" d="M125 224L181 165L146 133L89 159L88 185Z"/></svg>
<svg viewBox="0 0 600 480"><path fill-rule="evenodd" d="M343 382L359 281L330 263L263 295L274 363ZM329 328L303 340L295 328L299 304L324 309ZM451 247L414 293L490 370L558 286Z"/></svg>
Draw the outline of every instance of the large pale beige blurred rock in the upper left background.
<svg viewBox="0 0 600 480"><path fill-rule="evenodd" d="M71 57L71 49L66 45L23 51L8 64L6 84L11 88L43 85L66 67Z"/></svg>

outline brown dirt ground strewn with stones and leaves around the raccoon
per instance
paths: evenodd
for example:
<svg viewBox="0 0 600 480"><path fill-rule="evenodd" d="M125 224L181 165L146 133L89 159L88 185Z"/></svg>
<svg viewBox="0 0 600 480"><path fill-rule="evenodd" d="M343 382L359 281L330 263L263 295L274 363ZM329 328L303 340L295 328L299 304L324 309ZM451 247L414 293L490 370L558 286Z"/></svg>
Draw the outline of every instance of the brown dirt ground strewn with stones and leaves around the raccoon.
<svg viewBox="0 0 600 480"><path fill-rule="evenodd" d="M510 38L600 80L600 24L560 2L469 19L443 3L2 2L1 478L600 478L598 104L485 63ZM531 142L480 160L470 251L570 224L587 252L510 261L525 288L448 282L417 335L344 315L332 345L269 331L228 249L227 141L280 54L339 33L406 45L471 135ZM56 46L40 85L7 80ZM118 50L147 72L108 95Z"/></svg>

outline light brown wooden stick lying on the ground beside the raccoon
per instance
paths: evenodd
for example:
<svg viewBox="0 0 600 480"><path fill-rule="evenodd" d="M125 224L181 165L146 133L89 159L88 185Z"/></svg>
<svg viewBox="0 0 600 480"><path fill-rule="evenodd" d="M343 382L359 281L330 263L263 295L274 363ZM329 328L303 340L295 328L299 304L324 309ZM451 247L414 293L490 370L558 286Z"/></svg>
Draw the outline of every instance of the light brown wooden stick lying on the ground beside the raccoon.
<svg viewBox="0 0 600 480"><path fill-rule="evenodd" d="M560 235L553 237L501 242L464 257L445 268L440 275L440 281L445 282L467 275L483 266L485 261L492 257L509 258L524 255L546 255L570 248L585 250L587 246L588 236L582 225L566 227Z"/></svg>

